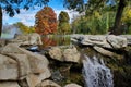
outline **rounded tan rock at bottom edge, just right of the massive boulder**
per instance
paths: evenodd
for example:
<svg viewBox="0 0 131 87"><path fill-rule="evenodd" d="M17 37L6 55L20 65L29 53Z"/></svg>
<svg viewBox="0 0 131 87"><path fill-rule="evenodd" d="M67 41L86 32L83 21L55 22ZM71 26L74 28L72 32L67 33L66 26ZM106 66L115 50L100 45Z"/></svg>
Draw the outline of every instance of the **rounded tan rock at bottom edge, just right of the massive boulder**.
<svg viewBox="0 0 131 87"><path fill-rule="evenodd" d="M61 87L52 80L44 80L43 83L38 84L36 87Z"/></svg>

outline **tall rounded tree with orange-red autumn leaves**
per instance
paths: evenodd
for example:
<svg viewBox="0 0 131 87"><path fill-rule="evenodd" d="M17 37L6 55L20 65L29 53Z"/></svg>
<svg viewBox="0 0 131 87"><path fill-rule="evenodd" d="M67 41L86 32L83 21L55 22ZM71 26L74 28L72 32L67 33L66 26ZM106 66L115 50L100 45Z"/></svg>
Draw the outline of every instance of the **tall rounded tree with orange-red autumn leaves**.
<svg viewBox="0 0 131 87"><path fill-rule="evenodd" d="M57 32L57 15L49 7L45 7L35 15L35 29L40 35L53 34Z"/></svg>

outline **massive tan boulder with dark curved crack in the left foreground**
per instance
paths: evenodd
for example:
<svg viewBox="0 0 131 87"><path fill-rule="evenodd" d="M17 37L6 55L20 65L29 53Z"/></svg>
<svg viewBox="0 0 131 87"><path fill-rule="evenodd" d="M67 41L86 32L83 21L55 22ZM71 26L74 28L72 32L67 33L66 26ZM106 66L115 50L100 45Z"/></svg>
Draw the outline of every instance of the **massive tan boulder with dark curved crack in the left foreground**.
<svg viewBox="0 0 131 87"><path fill-rule="evenodd" d="M29 87L35 87L38 83L51 76L48 69L49 61L46 57L27 51L14 44L7 45L1 50L0 60L1 66L3 64L4 67L0 69L0 73L2 73L0 75L3 75L0 76L0 79L20 80L25 78ZM3 74L3 71L7 73Z"/></svg>

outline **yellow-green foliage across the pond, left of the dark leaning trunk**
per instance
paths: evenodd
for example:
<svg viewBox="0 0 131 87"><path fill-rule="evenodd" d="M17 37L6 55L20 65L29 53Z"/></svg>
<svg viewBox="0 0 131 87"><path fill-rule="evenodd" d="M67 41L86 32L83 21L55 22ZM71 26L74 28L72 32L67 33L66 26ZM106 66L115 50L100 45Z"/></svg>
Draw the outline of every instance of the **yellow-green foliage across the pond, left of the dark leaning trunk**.
<svg viewBox="0 0 131 87"><path fill-rule="evenodd" d="M90 16L81 16L74 20L72 30L75 30L73 33L82 34L106 34L114 24L114 12L100 14L98 11L95 11Z"/></svg>

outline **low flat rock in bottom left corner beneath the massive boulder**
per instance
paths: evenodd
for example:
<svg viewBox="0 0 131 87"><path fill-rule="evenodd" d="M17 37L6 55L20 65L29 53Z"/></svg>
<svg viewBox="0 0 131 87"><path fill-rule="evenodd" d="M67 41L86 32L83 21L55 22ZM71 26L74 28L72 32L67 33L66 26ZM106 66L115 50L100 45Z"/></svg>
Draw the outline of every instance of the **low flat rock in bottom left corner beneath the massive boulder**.
<svg viewBox="0 0 131 87"><path fill-rule="evenodd" d="M0 82L0 87L21 87L16 82Z"/></svg>

